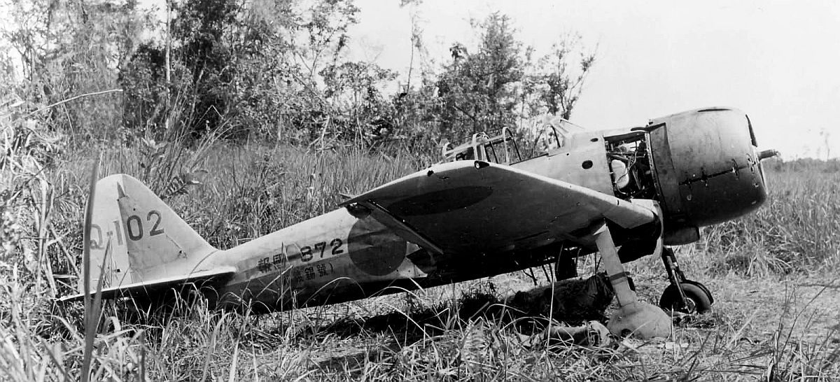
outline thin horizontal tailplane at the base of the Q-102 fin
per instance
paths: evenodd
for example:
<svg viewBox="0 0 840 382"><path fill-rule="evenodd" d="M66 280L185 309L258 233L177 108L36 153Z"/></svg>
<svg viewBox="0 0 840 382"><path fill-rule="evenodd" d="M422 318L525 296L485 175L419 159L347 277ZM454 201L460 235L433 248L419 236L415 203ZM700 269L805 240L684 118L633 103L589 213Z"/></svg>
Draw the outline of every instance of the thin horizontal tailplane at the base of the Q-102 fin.
<svg viewBox="0 0 840 382"><path fill-rule="evenodd" d="M189 275L165 277L157 280L102 288L102 299L139 294L150 296L152 293L175 288L179 285L189 283L202 284L203 282L211 280L228 279L233 276L234 273L236 273L235 267L221 267L217 269L200 270ZM91 296L93 296L96 292L96 290L91 290ZM81 300L84 296L85 295L83 293L63 296L59 298L59 301L76 301Z"/></svg>

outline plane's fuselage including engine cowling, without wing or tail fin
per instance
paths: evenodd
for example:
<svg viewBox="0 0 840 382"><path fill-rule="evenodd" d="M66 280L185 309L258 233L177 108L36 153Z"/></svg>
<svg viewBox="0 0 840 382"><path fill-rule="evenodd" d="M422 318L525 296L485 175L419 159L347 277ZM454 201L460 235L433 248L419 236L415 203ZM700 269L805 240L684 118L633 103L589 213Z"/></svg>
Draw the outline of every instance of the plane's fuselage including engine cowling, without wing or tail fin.
<svg viewBox="0 0 840 382"><path fill-rule="evenodd" d="M679 129L675 131L681 135L672 133L665 137L663 132L669 131L668 128ZM686 141L683 137L689 133L706 138ZM704 109L660 118L648 128L570 134L564 137L566 141L562 144L557 139L558 145L554 148L511 165L626 200L643 198L665 202L669 207L665 212L679 212L680 219L679 224L675 224L674 217L664 216L666 243L669 240L686 243L696 240L699 225L739 216L764 201L766 191L759 165L761 158L752 135L743 113ZM695 158L692 153L700 156ZM673 155L676 156L672 158ZM632 168L632 176L627 171L627 176L636 185L622 186L617 181L621 175L615 167L622 165L617 159L624 160L628 166L636 166ZM685 167L687 170L674 170L678 163L683 164L680 169ZM638 167L640 164L642 167ZM732 185L715 183L724 176L706 175L712 171L720 172L726 179L732 178ZM680 176L678 180L671 179L675 174ZM699 181L695 182L692 176ZM677 183L681 195L673 191ZM695 215L702 215L702 219L692 221L685 208L679 209L681 205L678 204L681 201L696 205L692 199L697 197L692 198L690 186L696 188L693 193L702 196L704 205L709 207L715 204L716 195L725 196L725 199L717 200L723 208L698 210L702 213ZM549 198L543 202L552 201ZM722 217L707 217L709 211L722 214ZM621 239L617 238L617 241ZM285 310L497 275L544 264L556 259L560 249L570 247L581 249L577 254L592 252L595 250L594 237L590 233L566 234L556 240L524 241L517 248L497 253L477 250L475 254L462 251L433 256L374 218L356 217L348 209L341 208L234 249L218 251L208 260L233 265L239 270L232 280L217 290L223 305L252 301L252 308L258 310Z"/></svg>

